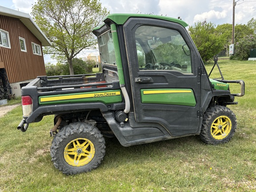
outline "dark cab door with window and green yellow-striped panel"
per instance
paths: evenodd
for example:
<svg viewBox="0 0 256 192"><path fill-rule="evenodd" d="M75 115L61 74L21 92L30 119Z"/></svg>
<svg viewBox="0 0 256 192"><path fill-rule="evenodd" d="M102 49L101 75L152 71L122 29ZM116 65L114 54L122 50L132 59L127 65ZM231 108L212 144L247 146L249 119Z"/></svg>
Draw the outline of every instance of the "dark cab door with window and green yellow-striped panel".
<svg viewBox="0 0 256 192"><path fill-rule="evenodd" d="M172 136L200 128L200 58L180 24L130 18L123 26L137 123Z"/></svg>

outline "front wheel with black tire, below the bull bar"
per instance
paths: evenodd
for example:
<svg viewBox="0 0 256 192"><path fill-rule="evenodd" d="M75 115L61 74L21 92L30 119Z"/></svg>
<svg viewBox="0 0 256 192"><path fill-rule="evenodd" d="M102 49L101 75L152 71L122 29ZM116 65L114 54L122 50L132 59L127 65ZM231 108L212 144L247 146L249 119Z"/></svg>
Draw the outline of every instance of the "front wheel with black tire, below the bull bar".
<svg viewBox="0 0 256 192"><path fill-rule="evenodd" d="M236 131L236 116L227 107L215 105L204 112L200 139L207 144L227 143Z"/></svg>

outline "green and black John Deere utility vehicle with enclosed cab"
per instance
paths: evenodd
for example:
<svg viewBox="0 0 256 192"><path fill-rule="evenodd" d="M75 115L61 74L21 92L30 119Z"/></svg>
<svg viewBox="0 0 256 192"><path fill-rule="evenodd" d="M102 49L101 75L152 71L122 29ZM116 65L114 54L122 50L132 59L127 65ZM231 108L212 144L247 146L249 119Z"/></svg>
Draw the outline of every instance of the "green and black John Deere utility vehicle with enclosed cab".
<svg viewBox="0 0 256 192"><path fill-rule="evenodd" d="M55 114L51 156L65 174L97 168L104 137L125 147L191 135L228 142L236 116L226 106L244 95L244 81L209 79L187 26L164 16L108 15L92 31L102 72L37 77L21 90L18 129ZM231 94L228 83L241 92Z"/></svg>

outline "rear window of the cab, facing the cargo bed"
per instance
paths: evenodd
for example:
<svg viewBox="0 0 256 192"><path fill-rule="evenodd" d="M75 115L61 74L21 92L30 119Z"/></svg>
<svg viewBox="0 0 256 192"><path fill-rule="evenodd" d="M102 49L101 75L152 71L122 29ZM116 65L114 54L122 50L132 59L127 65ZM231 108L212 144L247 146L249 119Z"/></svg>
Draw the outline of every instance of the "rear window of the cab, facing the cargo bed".
<svg viewBox="0 0 256 192"><path fill-rule="evenodd" d="M116 65L115 49L110 30L99 36L98 42L102 64Z"/></svg>

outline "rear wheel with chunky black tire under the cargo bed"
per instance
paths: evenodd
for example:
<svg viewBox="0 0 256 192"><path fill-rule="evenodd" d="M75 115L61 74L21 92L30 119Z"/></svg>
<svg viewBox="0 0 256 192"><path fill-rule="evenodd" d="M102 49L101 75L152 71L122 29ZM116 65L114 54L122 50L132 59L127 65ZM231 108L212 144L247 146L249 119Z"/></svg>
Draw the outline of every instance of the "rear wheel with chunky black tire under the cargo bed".
<svg viewBox="0 0 256 192"><path fill-rule="evenodd" d="M104 137L98 128L85 122L64 126L52 141L52 162L67 175L97 168L104 155Z"/></svg>

